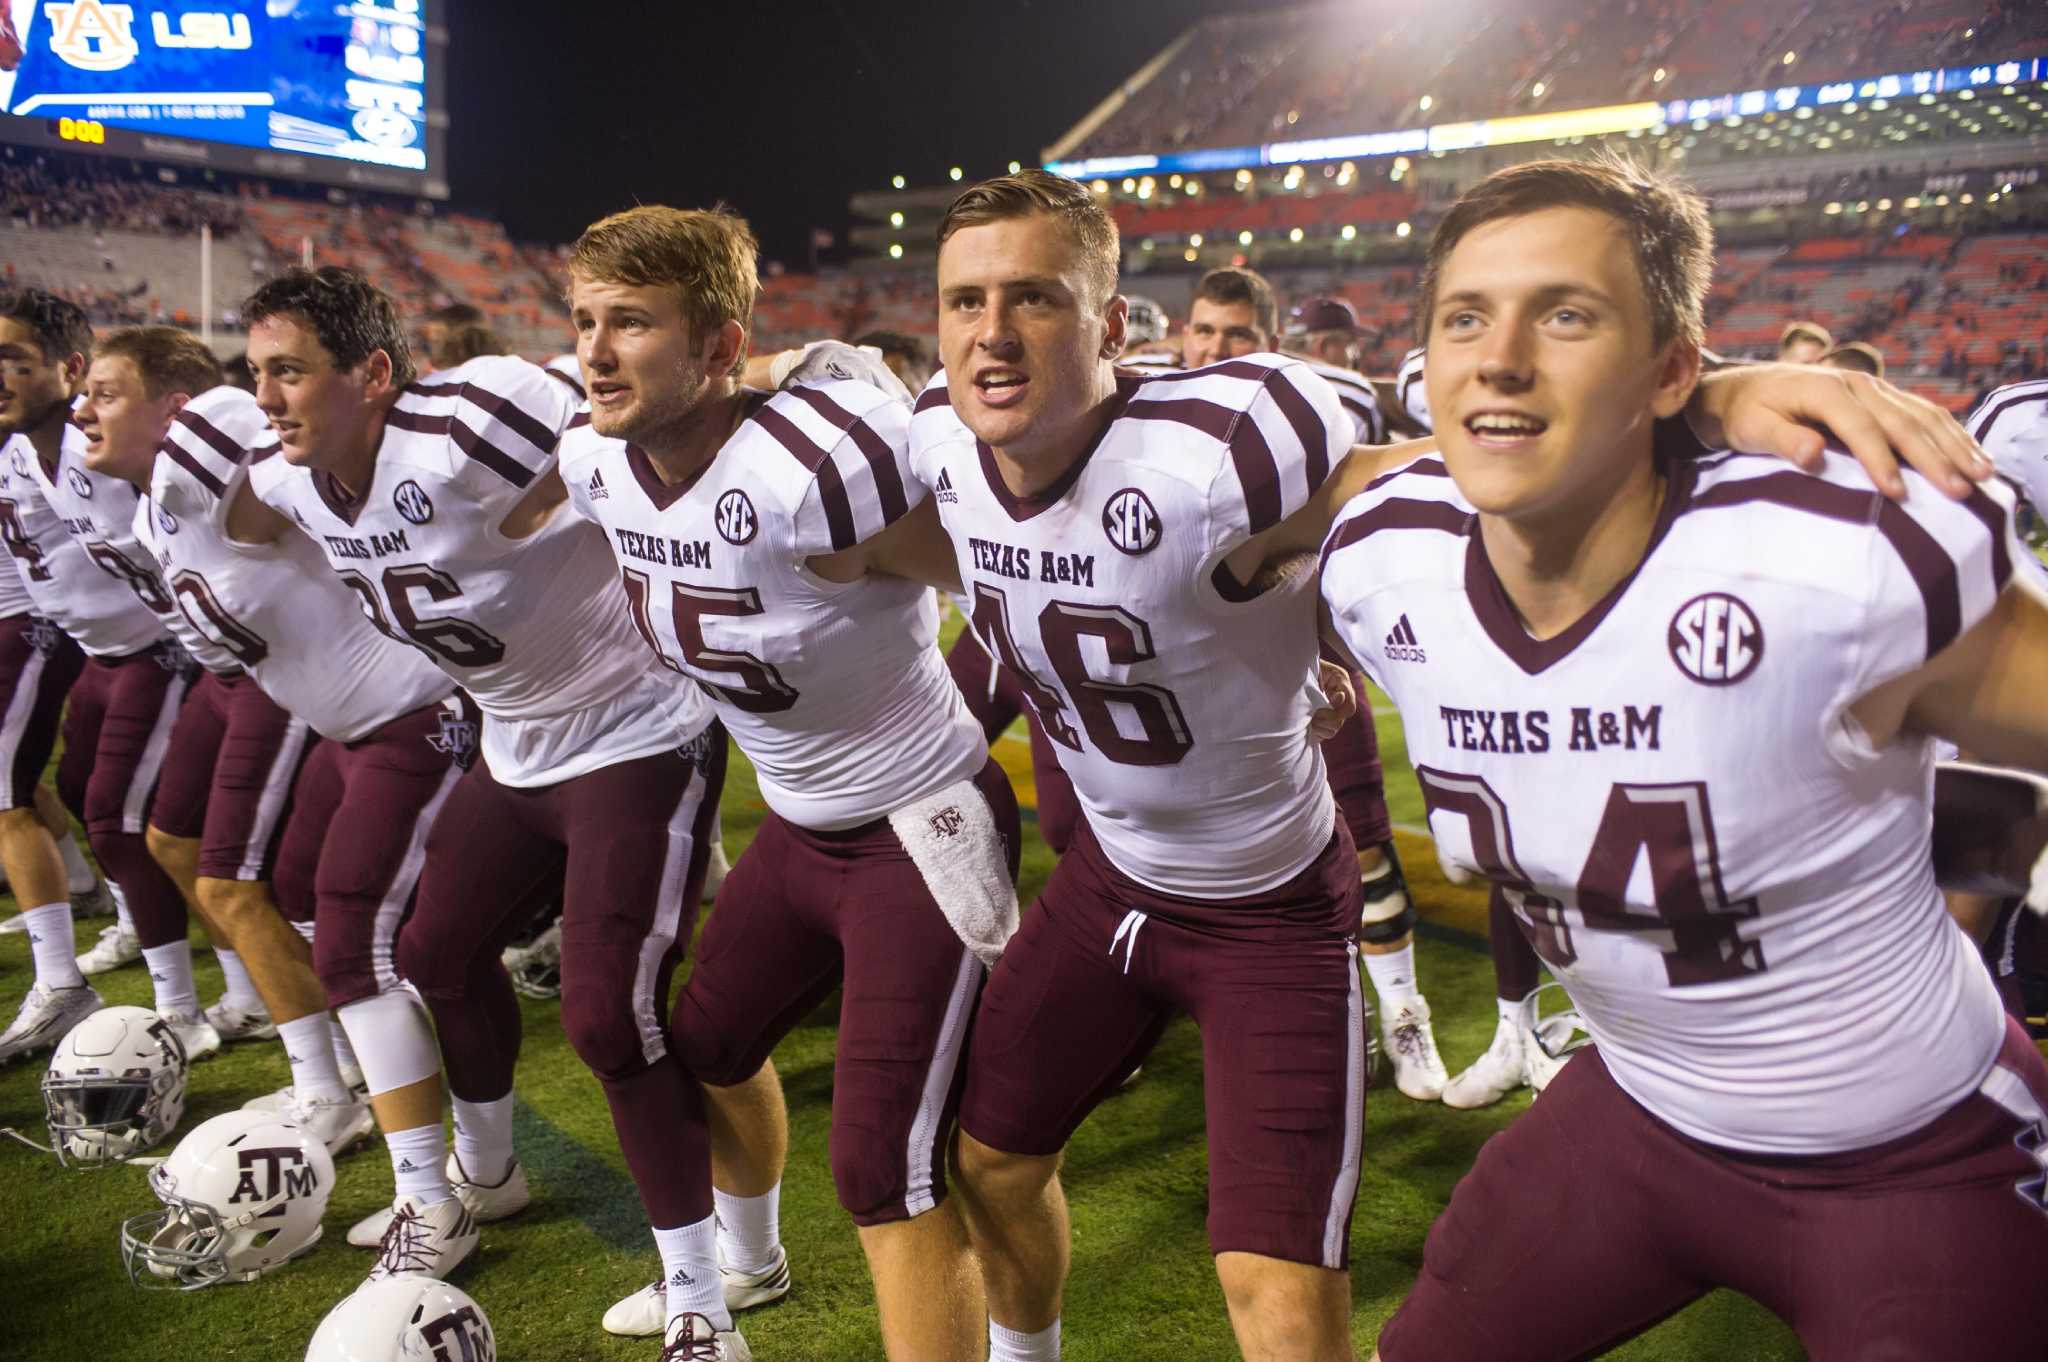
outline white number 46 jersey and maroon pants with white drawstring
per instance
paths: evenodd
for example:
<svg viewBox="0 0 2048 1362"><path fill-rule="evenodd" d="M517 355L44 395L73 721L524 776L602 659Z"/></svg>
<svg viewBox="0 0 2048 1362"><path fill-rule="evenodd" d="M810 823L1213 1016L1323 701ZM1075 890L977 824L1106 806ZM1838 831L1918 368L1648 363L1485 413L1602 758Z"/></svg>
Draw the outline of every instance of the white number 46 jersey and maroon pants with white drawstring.
<svg viewBox="0 0 2048 1362"><path fill-rule="evenodd" d="M1004 485L944 377L911 420L973 627L1085 811L983 993L961 1129L1057 1151L1188 1012L1210 1245L1335 1268L1364 1120L1358 864L1307 739L1313 588L1253 594L1223 559L1309 500L1352 424L1278 356L1116 383L1106 428L1032 498ZM1268 1102L1286 1120L1260 1118Z"/></svg>

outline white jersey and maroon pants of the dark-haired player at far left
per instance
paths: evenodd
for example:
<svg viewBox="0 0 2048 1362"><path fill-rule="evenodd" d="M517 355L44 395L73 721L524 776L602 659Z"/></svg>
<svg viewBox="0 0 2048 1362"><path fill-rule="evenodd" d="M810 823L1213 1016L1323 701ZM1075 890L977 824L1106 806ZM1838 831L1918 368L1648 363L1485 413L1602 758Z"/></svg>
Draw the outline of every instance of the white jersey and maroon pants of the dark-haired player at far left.
<svg viewBox="0 0 2048 1362"><path fill-rule="evenodd" d="M43 467L27 438L12 442L0 514L37 612L86 651L63 713L57 795L127 895L141 944L154 948L184 936L184 897L150 856L143 825L193 664L143 604L152 594L168 602L162 580L102 539L123 512L133 524L137 496L86 469L86 436L66 424L55 467ZM31 789L16 795L27 805Z"/></svg>

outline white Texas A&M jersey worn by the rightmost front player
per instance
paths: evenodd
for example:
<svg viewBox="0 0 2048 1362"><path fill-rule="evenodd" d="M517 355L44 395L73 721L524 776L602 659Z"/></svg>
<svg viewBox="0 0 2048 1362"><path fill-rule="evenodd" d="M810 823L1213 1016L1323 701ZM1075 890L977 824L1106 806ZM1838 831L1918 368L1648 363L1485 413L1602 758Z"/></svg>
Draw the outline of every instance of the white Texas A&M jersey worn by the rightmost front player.
<svg viewBox="0 0 2048 1362"><path fill-rule="evenodd" d="M1395 698L1446 864L1507 891L1614 1079L1686 1135L1862 1149L1976 1090L2005 1018L1935 889L1931 741L1849 707L1982 619L2011 496L1853 459L1679 463L1642 565L1532 639L1440 459L1380 477L1323 600Z"/></svg>

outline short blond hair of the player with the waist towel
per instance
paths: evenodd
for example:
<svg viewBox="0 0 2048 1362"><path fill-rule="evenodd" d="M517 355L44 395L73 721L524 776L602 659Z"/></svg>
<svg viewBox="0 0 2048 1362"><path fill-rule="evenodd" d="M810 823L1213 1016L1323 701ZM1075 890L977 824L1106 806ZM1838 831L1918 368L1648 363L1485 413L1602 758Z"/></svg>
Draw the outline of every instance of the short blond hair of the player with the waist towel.
<svg viewBox="0 0 2048 1362"><path fill-rule="evenodd" d="M748 219L723 205L672 209L645 203L584 227L569 250L569 276L674 289L692 340L727 322L737 322L752 336L760 242ZM731 377L739 377L745 360L741 342Z"/></svg>

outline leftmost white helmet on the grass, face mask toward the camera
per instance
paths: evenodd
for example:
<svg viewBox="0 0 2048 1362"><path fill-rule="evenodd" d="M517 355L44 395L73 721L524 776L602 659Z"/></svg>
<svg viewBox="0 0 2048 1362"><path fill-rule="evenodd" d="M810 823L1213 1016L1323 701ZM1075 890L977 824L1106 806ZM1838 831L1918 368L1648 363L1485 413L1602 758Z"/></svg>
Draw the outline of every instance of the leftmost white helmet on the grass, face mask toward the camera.
<svg viewBox="0 0 2048 1362"><path fill-rule="evenodd" d="M43 1122L66 1167L152 1149L184 1116L184 1045L145 1008L100 1008L72 1028L43 1075Z"/></svg>

